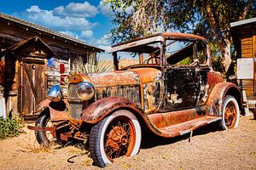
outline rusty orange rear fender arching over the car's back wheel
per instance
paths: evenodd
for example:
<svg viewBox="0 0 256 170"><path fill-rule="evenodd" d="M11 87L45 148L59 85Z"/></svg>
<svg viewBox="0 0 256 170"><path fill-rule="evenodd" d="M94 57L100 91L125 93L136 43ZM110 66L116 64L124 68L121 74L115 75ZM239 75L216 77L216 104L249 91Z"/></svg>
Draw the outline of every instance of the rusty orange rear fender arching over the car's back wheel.
<svg viewBox="0 0 256 170"><path fill-rule="evenodd" d="M218 82L218 84L212 88L211 94L207 99L207 115L222 116L224 98L226 95L234 96L241 109L241 92L236 84L232 82Z"/></svg>

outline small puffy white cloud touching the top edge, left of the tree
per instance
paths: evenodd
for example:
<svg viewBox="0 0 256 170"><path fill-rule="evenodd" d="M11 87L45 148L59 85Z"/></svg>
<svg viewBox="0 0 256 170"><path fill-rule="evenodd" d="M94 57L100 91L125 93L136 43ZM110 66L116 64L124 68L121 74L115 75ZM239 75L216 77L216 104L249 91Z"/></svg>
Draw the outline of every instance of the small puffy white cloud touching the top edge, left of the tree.
<svg viewBox="0 0 256 170"><path fill-rule="evenodd" d="M85 1L84 3L68 3L65 7L59 6L54 8L53 12L57 16L94 17L98 14L98 9Z"/></svg>

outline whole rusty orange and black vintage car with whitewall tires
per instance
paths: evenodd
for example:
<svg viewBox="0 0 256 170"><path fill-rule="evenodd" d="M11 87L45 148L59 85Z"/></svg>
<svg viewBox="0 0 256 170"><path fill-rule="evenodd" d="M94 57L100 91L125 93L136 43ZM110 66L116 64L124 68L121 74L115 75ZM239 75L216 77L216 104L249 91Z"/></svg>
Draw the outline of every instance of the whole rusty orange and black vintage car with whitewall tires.
<svg viewBox="0 0 256 170"><path fill-rule="evenodd" d="M105 167L136 155L146 130L172 138L212 122L238 126L240 89L212 71L204 37L158 33L113 45L110 53L114 71L71 75L66 98L60 86L49 89L30 127L39 144L49 144L49 134L87 141L94 163Z"/></svg>

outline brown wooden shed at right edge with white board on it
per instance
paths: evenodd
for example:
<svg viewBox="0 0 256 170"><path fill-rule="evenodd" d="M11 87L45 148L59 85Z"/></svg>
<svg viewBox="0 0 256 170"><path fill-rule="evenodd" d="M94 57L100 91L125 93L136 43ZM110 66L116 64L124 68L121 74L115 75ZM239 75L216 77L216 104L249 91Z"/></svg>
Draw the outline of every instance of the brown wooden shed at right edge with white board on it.
<svg viewBox="0 0 256 170"><path fill-rule="evenodd" d="M246 115L256 105L256 18L230 23Z"/></svg>

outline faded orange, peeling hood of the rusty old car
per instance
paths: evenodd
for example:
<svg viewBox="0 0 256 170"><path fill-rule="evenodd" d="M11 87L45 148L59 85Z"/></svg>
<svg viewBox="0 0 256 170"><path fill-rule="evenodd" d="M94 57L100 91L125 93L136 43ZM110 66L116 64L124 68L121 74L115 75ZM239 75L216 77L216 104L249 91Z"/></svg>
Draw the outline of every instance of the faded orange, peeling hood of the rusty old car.
<svg viewBox="0 0 256 170"><path fill-rule="evenodd" d="M160 80L161 71L155 68L135 68L129 71L112 71L90 74L94 86L125 86Z"/></svg>

